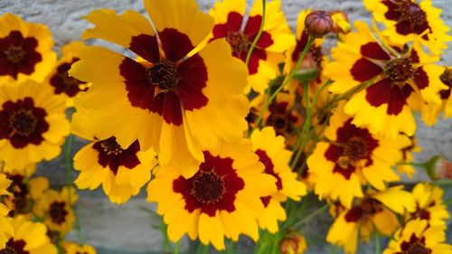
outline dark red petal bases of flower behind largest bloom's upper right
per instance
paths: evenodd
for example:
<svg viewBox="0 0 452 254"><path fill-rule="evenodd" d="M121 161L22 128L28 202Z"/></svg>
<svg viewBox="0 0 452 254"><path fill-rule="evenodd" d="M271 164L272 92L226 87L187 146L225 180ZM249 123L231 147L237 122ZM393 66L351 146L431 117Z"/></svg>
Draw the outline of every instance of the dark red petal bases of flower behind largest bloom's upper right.
<svg viewBox="0 0 452 254"><path fill-rule="evenodd" d="M218 38L228 38L231 34L240 33L243 35L243 38L247 40L247 47L245 50L240 51L236 51L234 47L232 47L232 55L245 62L250 50L250 45L259 33L261 21L261 15L250 16L243 31L240 31L243 16L237 12L231 12L228 14L228 19L225 24L215 24L215 26L213 26L212 40ZM267 52L265 52L265 49L273 43L274 42L270 33L263 31L260 34L259 41L250 56L250 62L248 65L250 75L258 72L259 60L267 60Z"/></svg>

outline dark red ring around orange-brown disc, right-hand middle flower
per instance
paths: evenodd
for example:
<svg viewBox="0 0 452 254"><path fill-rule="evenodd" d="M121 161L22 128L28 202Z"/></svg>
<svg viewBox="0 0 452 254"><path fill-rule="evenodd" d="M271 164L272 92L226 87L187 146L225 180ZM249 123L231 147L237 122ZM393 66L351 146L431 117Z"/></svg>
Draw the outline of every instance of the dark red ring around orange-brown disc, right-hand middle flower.
<svg viewBox="0 0 452 254"><path fill-rule="evenodd" d="M353 165L349 165L347 168L342 168L337 162L339 158L344 155L344 146L349 142L352 138L360 138L365 144L366 153L363 156L360 156L360 160L366 160L365 166L372 165L372 151L379 145L378 141L374 139L369 133L369 130L365 128L355 127L352 124L352 119L347 120L344 123L344 126L339 127L336 130L337 140L336 144L331 144L325 151L325 158L328 161L334 163L334 173L344 175L345 179L349 180L351 175L356 171L356 167Z"/></svg>

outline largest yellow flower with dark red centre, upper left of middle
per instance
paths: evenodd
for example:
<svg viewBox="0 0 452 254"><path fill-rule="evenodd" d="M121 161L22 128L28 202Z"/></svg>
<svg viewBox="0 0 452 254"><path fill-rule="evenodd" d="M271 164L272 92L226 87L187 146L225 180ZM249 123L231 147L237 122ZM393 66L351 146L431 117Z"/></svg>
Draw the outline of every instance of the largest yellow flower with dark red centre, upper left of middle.
<svg viewBox="0 0 452 254"><path fill-rule="evenodd" d="M142 14L98 10L83 38L115 42L146 61L102 47L87 47L71 76L91 83L76 102L87 108L84 129L118 145L154 147L159 164L170 162L185 177L203 161L202 149L237 142L247 129L246 68L224 40L193 49L212 31L213 19L194 0L145 1L157 33ZM158 42L157 42L158 37Z"/></svg>

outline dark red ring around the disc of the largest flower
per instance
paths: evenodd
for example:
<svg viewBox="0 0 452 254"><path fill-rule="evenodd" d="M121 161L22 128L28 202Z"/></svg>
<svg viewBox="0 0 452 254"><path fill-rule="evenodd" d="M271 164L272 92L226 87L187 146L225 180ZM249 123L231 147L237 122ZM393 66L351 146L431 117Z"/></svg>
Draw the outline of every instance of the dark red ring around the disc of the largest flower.
<svg viewBox="0 0 452 254"><path fill-rule="evenodd" d="M183 124L182 110L199 109L207 105L208 99L202 94L202 89L207 86L207 67L198 54L180 61L193 50L193 44L186 34L165 28L158 35L166 59L172 61L176 68L177 83L174 88L159 89L151 83L148 64L129 58L121 62L119 73L124 78L127 99L133 107L147 109L162 116L167 124L180 126ZM151 66L165 58L159 55L155 36L141 34L132 37L129 48L150 62Z"/></svg>

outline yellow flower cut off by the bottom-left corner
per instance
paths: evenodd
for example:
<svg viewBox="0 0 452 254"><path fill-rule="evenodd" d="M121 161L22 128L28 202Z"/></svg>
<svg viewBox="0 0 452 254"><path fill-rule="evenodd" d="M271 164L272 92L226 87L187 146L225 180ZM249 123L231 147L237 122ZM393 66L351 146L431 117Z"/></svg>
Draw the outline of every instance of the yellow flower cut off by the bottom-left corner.
<svg viewBox="0 0 452 254"><path fill-rule="evenodd" d="M27 221L24 216L10 219L14 233L6 241L6 246L0 253L18 254L57 254L57 248L52 245L46 235L47 228L39 222Z"/></svg>

